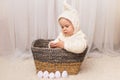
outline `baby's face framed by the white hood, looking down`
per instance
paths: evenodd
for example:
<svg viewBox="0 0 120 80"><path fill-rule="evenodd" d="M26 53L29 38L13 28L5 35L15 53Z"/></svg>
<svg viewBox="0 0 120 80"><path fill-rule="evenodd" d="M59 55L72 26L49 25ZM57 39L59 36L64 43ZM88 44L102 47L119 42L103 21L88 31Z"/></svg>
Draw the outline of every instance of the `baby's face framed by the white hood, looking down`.
<svg viewBox="0 0 120 80"><path fill-rule="evenodd" d="M71 35L73 35L74 27L73 27L72 23L68 19L61 18L59 20L59 23L61 25L62 32L63 32L63 34L65 36L71 36Z"/></svg>

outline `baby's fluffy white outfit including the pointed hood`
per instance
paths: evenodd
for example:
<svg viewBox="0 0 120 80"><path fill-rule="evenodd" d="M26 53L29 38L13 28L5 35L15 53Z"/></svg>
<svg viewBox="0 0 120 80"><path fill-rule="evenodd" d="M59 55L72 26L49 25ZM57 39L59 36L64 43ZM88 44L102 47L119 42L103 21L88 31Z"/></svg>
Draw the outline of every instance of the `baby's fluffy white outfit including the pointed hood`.
<svg viewBox="0 0 120 80"><path fill-rule="evenodd" d="M80 30L80 21L77 11L64 2L64 12L58 17L58 21L62 17L71 21L74 27L74 34L66 37L61 32L54 41L64 41L64 49L69 52L76 54L82 53L87 47L87 40L85 34Z"/></svg>

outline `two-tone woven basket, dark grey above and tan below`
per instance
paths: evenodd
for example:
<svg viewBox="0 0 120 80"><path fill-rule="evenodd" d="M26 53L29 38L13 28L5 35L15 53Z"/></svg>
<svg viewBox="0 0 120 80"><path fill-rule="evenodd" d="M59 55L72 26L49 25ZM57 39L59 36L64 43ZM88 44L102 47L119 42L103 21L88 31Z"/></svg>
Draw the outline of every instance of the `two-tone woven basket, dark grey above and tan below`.
<svg viewBox="0 0 120 80"><path fill-rule="evenodd" d="M84 60L86 50L81 54L74 54L61 48L48 48L51 40L38 39L32 43L32 53L37 72L47 70L48 72L64 71L68 74L77 74Z"/></svg>

